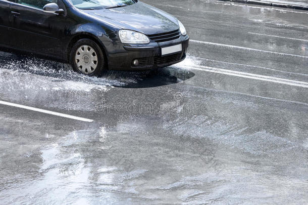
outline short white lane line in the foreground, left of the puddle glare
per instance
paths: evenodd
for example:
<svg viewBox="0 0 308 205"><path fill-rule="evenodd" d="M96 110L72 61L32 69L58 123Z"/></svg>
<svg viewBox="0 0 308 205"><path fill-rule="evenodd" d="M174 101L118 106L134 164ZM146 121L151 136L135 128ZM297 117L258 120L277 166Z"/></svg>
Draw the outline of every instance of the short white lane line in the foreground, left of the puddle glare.
<svg viewBox="0 0 308 205"><path fill-rule="evenodd" d="M29 107L29 106L25 106L25 105L16 104L16 103L5 102L5 101L2 101L2 100L0 100L0 104L13 106L13 107L19 107L19 108L26 109L26 110L32 110L32 111L36 111L36 112L56 115L56 116L60 116L60 117L70 118L70 119L76 119L76 120L79 120L79 121L86 121L86 122L92 122L93 121L92 119L77 117L77 116L73 116L73 115L69 115L69 114L63 114L63 113L59 113L59 112L53 112L53 111L49 111L49 110L43 110L43 109L39 109L39 108L35 108L35 107Z"/></svg>

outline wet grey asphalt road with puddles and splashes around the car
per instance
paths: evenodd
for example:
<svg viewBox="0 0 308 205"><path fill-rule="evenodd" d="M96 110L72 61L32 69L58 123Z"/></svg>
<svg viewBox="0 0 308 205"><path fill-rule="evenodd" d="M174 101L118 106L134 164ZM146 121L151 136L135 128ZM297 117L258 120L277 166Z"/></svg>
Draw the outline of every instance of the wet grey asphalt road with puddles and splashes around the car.
<svg viewBox="0 0 308 205"><path fill-rule="evenodd" d="M144 2L186 26L184 62L95 78L0 53L0 100L94 120L0 105L0 203L308 203L308 13Z"/></svg>

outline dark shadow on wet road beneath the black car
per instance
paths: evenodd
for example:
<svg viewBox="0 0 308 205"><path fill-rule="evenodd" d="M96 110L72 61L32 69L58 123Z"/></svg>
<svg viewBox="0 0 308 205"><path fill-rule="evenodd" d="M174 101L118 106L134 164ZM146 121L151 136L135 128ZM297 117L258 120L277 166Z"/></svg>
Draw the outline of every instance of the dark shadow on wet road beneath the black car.
<svg viewBox="0 0 308 205"><path fill-rule="evenodd" d="M68 64L4 52L0 55L0 68L56 78L52 81L70 80L118 88L151 88L171 85L195 75L189 70L170 66L143 72L107 71L101 77L90 77L74 72Z"/></svg>

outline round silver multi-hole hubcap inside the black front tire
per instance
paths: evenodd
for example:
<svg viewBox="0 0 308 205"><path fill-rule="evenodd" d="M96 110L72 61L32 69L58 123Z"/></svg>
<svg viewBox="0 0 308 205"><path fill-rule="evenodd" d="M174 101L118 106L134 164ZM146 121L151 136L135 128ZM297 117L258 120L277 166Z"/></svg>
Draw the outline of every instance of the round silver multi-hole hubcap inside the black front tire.
<svg viewBox="0 0 308 205"><path fill-rule="evenodd" d="M83 45L76 51L75 62L82 73L91 74L97 68L97 54L92 47Z"/></svg>

